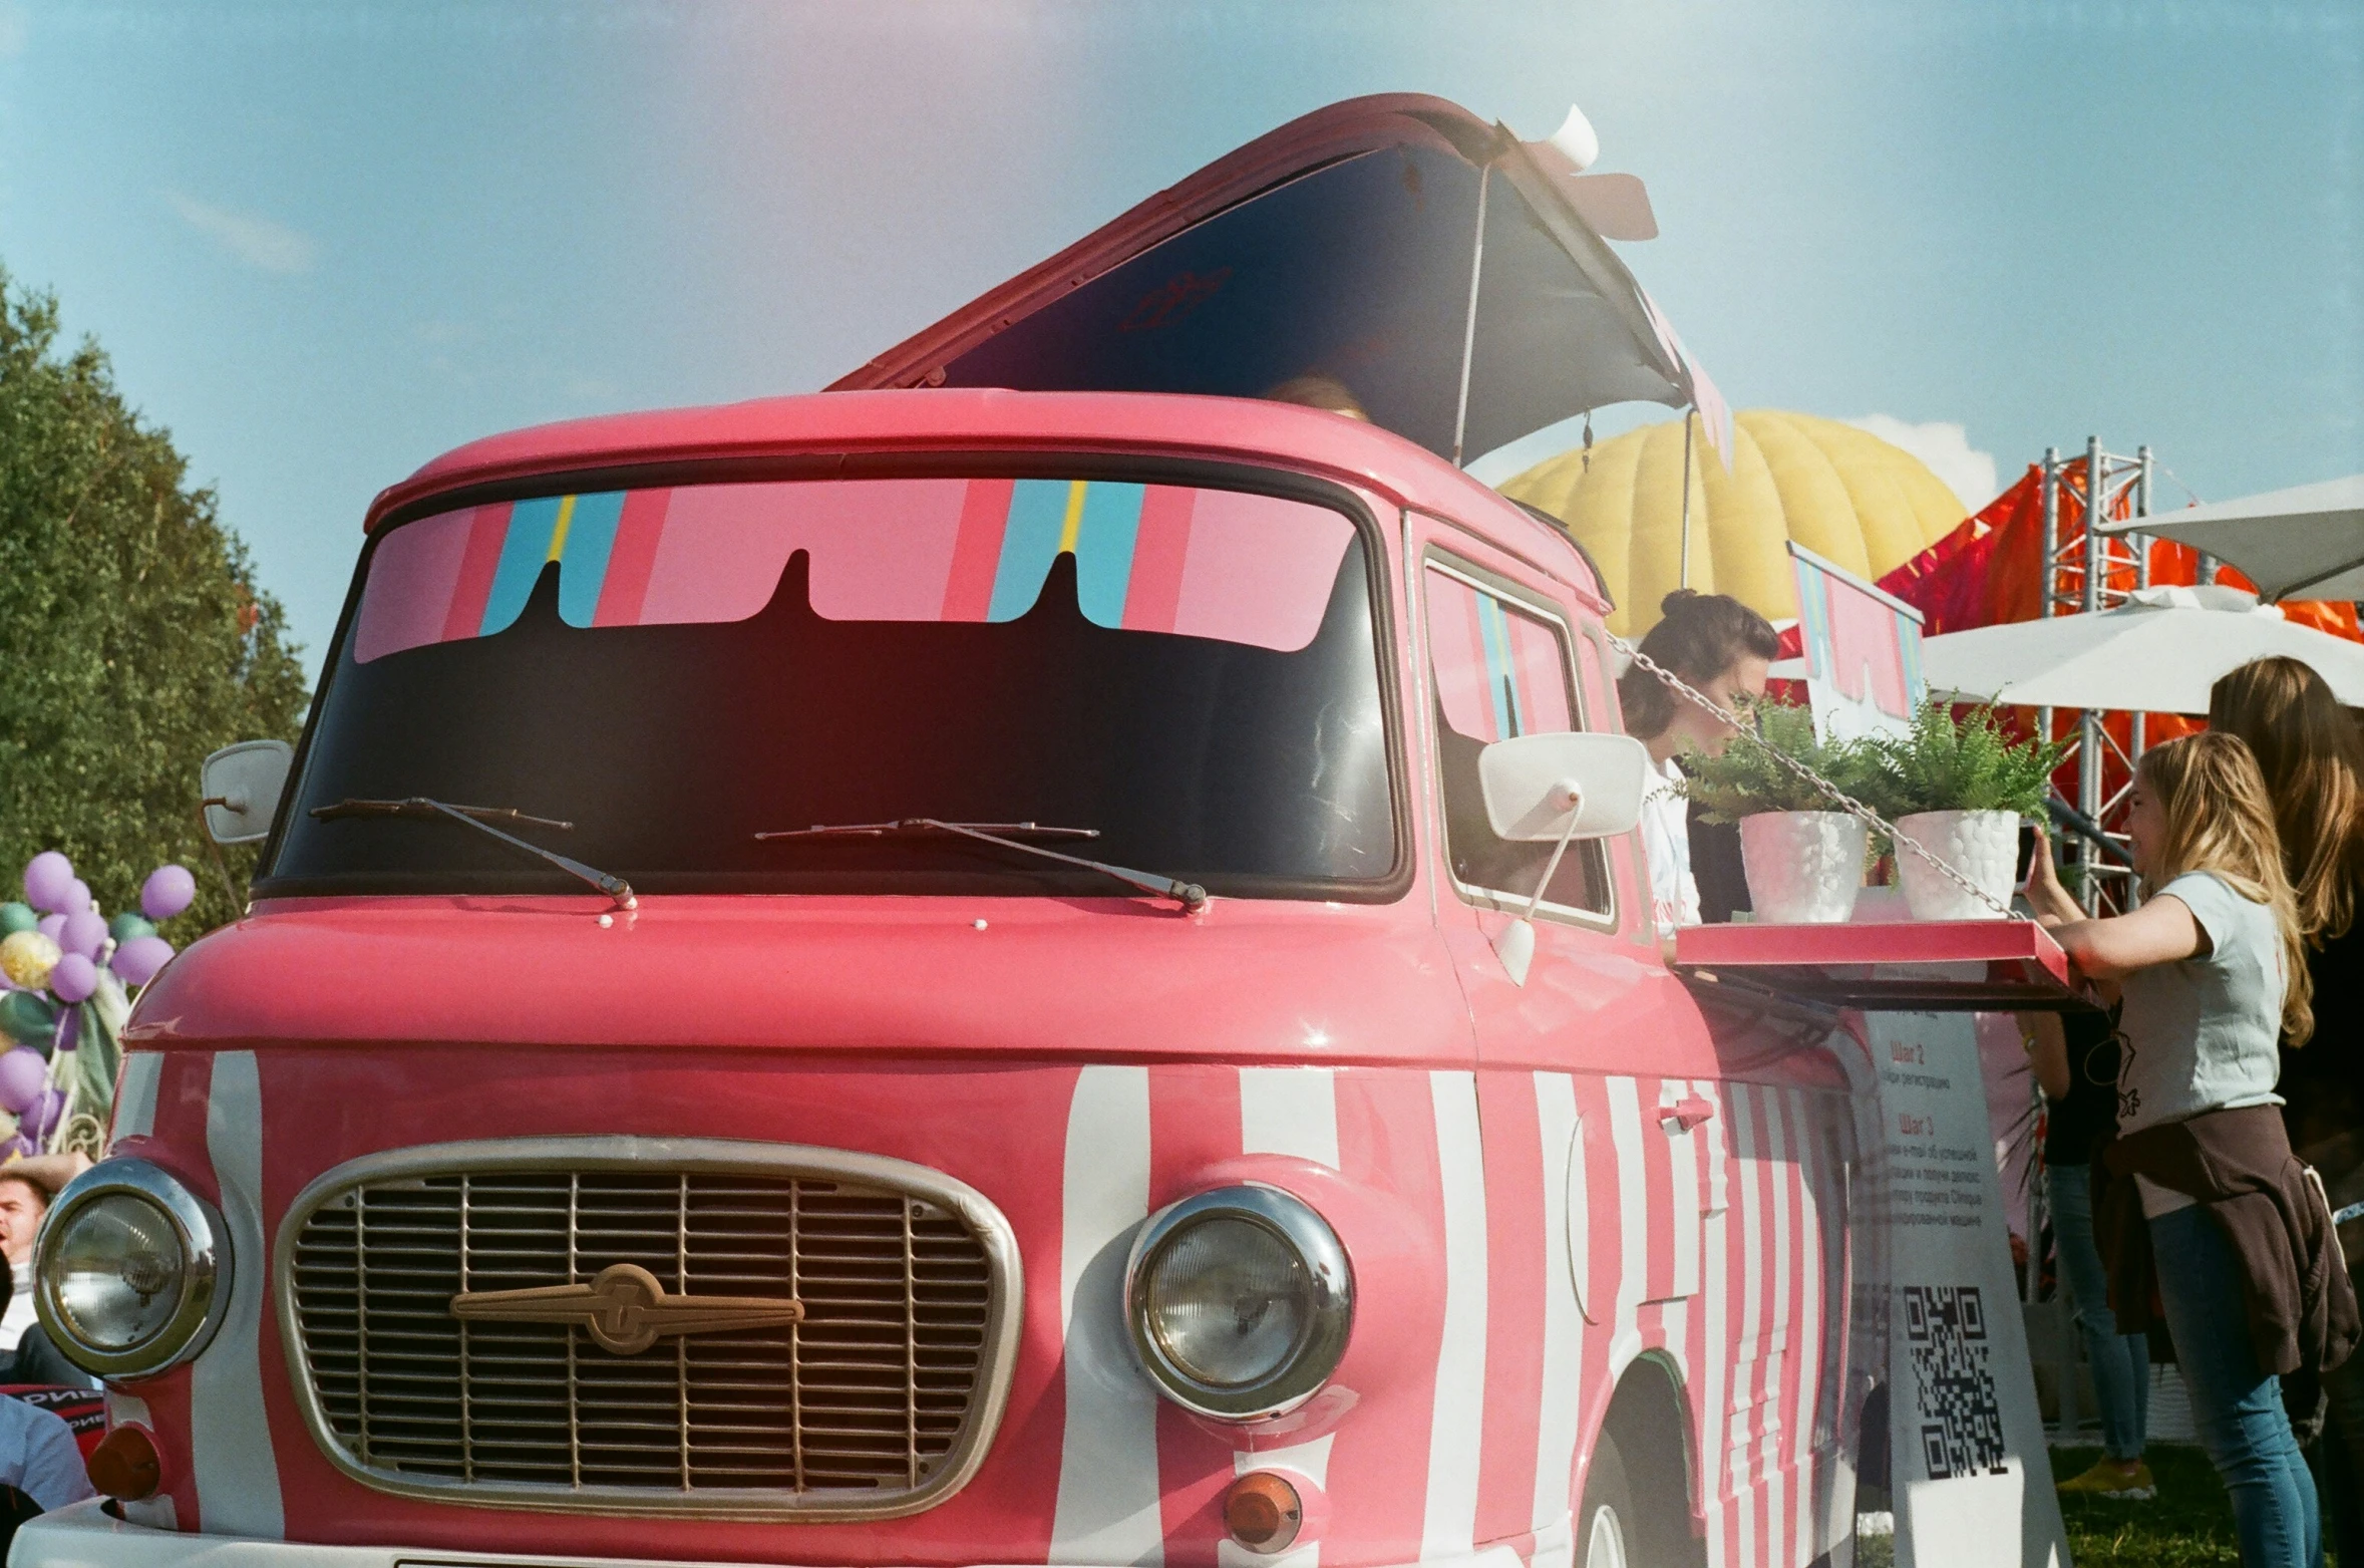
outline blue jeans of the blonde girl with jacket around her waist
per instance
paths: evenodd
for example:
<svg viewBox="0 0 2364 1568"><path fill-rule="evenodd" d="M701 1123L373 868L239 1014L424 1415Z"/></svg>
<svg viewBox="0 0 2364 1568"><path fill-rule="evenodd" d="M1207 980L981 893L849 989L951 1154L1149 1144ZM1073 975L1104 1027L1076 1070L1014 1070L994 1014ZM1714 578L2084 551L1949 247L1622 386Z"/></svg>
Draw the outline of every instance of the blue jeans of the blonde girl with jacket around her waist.
<svg viewBox="0 0 2364 1568"><path fill-rule="evenodd" d="M2151 1220L2151 1263L2201 1447L2232 1495L2243 1568L2321 1568L2314 1476L2291 1436L2281 1386L2258 1369L2241 1265L2201 1206Z"/></svg>

